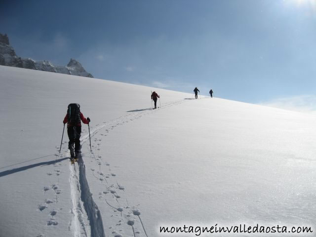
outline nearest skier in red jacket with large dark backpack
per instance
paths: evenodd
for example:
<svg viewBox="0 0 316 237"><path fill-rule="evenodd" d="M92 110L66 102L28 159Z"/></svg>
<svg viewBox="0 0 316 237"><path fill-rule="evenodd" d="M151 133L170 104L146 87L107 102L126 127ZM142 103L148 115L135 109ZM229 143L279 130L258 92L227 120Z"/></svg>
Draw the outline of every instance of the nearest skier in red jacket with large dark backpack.
<svg viewBox="0 0 316 237"><path fill-rule="evenodd" d="M81 135L81 121L89 124L90 118L84 118L80 112L79 104L69 104L67 114L63 123L67 123L67 133L69 137L68 149L70 150L70 157L73 163L74 159L78 158L80 153L80 135ZM75 148L74 148L75 144Z"/></svg>

